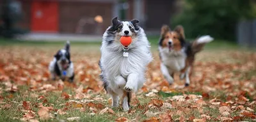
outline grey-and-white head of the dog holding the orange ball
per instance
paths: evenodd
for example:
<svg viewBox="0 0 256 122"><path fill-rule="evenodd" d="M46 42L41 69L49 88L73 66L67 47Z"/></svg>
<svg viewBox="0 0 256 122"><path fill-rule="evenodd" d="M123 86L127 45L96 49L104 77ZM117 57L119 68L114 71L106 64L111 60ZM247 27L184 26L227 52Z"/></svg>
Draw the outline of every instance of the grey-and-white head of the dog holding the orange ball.
<svg viewBox="0 0 256 122"><path fill-rule="evenodd" d="M119 21L117 17L113 18L112 25L108 29L110 32L115 32L116 40L118 41L121 36L136 36L136 32L140 30L138 26L139 20L131 20L131 21ZM124 47L128 48L128 47Z"/></svg>

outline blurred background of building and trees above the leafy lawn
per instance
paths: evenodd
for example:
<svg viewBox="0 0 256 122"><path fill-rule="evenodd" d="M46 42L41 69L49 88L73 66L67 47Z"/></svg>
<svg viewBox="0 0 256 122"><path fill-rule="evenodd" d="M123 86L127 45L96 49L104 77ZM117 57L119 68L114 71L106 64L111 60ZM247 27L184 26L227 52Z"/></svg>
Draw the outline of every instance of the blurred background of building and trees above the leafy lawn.
<svg viewBox="0 0 256 122"><path fill-rule="evenodd" d="M188 39L256 45L256 0L0 0L0 13L0 36L10 38L100 41L118 16L137 18L148 36L163 24L183 25Z"/></svg>

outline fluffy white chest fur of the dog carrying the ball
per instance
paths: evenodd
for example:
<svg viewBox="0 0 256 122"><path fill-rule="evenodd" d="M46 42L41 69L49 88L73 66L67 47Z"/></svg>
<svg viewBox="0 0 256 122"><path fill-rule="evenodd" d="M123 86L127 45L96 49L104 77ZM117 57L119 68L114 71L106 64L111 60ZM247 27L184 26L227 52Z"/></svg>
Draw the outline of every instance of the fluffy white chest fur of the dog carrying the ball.
<svg viewBox="0 0 256 122"><path fill-rule="evenodd" d="M106 56L106 57L105 57ZM129 57L124 57L123 53L108 53L108 55L102 55L102 64L104 65L104 71L108 72L109 78L115 78L116 76L127 76L131 73L139 73L143 75L146 69L146 65L151 60L151 55L148 52L130 51Z"/></svg>

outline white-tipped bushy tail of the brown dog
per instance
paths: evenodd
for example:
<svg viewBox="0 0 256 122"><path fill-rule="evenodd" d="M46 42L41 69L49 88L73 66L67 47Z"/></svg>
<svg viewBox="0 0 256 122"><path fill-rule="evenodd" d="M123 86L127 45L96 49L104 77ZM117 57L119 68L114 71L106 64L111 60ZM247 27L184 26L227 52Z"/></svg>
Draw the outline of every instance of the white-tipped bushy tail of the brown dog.
<svg viewBox="0 0 256 122"><path fill-rule="evenodd" d="M191 44L191 48L193 50L193 53L195 54L195 53L203 50L204 45L206 43L210 43L211 41L213 41L213 37L211 37L209 35L198 37L198 39L193 41L193 43Z"/></svg>

